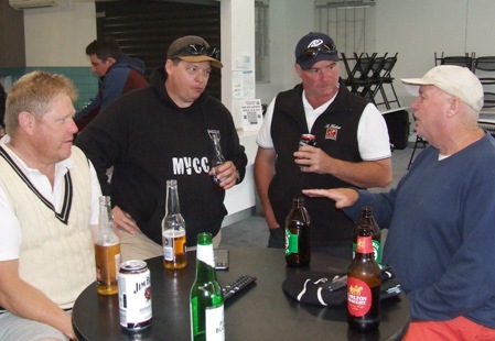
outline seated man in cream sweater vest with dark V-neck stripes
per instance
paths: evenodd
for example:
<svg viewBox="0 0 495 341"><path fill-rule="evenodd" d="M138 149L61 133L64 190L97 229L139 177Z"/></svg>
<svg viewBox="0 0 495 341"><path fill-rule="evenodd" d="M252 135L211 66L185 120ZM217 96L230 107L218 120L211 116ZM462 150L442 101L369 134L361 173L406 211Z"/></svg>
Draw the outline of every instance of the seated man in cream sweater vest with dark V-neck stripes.
<svg viewBox="0 0 495 341"><path fill-rule="evenodd" d="M76 89L33 72L7 98L0 140L0 340L75 340L71 308L95 280L101 190L73 146Z"/></svg>

